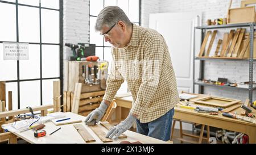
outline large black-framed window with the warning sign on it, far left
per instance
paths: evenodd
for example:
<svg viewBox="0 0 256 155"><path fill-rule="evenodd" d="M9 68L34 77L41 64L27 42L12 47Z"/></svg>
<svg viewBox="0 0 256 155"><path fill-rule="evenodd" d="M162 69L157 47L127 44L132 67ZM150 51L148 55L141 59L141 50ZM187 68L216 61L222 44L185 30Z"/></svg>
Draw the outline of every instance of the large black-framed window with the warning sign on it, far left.
<svg viewBox="0 0 256 155"><path fill-rule="evenodd" d="M13 91L13 110L53 103L52 81L62 79L62 3L0 1L0 81L7 103ZM28 43L29 59L3 60L5 42Z"/></svg>

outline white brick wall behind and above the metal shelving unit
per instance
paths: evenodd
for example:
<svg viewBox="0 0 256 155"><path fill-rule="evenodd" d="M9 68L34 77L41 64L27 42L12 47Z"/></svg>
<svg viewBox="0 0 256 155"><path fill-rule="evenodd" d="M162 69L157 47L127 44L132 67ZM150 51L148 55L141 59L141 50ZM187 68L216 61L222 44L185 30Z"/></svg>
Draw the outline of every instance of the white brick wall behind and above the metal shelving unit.
<svg viewBox="0 0 256 155"><path fill-rule="evenodd" d="M240 7L241 0L233 0L231 8ZM229 0L160 0L159 12L191 12L201 11L203 13L202 24L207 19L226 17ZM214 41L210 55L216 49L218 39L222 39L223 33L229 30L218 30L217 38ZM248 31L247 31L248 32ZM254 70L256 63L254 63ZM218 77L228 78L230 82L249 81L249 62L241 61L205 61L205 79L217 80ZM256 73L254 71L254 81ZM221 97L237 98L245 100L249 97L246 90L218 89L216 87L205 87L205 94ZM253 100L256 99L256 91L253 93Z"/></svg>

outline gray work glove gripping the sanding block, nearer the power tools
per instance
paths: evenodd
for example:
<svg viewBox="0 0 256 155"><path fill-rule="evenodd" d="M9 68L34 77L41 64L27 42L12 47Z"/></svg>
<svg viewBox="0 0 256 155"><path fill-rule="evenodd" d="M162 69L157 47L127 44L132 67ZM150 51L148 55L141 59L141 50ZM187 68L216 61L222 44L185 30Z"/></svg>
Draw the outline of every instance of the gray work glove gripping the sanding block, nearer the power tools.
<svg viewBox="0 0 256 155"><path fill-rule="evenodd" d="M103 115L105 114L106 109L108 108L108 104L106 104L103 100L101 101L100 107L96 108L86 117L84 122L91 122L93 119L96 119L98 123Z"/></svg>

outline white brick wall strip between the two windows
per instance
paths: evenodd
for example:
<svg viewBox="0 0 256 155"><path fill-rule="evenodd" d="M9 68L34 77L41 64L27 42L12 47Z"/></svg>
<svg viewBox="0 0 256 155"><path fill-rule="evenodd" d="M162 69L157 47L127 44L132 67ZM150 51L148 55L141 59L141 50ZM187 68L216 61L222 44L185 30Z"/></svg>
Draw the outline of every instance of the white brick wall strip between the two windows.
<svg viewBox="0 0 256 155"><path fill-rule="evenodd" d="M89 43L89 0L63 1L63 44ZM72 56L70 48L63 48L63 58Z"/></svg>

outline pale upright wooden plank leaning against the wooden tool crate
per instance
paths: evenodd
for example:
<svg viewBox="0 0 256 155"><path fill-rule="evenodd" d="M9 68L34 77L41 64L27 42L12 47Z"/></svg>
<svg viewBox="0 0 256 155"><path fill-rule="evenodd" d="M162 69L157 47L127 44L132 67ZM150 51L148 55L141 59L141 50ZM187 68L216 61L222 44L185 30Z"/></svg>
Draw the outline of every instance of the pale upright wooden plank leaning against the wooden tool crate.
<svg viewBox="0 0 256 155"><path fill-rule="evenodd" d="M78 114L82 83L76 83L71 112Z"/></svg>

